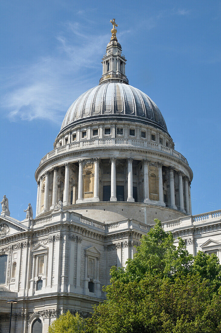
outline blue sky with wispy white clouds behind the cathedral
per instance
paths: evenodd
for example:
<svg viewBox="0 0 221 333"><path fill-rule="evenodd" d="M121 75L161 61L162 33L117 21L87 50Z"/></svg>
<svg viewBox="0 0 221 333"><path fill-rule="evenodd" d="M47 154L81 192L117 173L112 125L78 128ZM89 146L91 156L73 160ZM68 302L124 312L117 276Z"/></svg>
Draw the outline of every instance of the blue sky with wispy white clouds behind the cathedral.
<svg viewBox="0 0 221 333"><path fill-rule="evenodd" d="M159 107L193 170L193 214L221 208L221 1L0 3L0 198L35 212L35 170L73 101L98 85L110 19L129 84Z"/></svg>

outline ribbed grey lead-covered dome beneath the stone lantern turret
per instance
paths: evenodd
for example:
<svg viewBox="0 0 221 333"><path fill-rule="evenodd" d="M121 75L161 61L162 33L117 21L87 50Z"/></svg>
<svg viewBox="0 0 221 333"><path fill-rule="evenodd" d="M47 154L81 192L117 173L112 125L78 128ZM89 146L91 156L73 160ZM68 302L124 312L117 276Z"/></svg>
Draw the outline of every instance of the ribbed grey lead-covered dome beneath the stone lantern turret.
<svg viewBox="0 0 221 333"><path fill-rule="evenodd" d="M146 94L116 82L101 84L82 94L68 109L61 131L82 122L110 118L146 123L168 133L160 110Z"/></svg>

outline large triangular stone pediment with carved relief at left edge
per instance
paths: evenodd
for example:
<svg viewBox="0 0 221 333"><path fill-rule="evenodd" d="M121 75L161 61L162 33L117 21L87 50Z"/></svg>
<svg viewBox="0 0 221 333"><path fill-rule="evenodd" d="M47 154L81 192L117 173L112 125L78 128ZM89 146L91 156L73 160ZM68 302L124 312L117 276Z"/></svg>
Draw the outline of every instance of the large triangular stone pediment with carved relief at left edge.
<svg viewBox="0 0 221 333"><path fill-rule="evenodd" d="M22 225L20 221L12 217L0 216L0 237L6 237L28 229L28 227Z"/></svg>

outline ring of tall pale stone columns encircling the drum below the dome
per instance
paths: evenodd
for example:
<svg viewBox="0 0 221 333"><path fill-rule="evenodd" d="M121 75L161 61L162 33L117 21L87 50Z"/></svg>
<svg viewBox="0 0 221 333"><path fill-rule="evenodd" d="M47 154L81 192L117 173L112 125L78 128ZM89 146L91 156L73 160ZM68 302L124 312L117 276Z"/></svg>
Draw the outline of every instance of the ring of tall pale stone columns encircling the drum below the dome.
<svg viewBox="0 0 221 333"><path fill-rule="evenodd" d="M132 158L127 158L127 201L134 201L133 198L133 172L132 172ZM78 199L76 203L84 202L83 196L83 165L84 160L79 160L79 174L78 174ZM91 198L91 201L100 201L99 198L99 163L100 159L94 159L94 197ZM111 190L110 190L110 201L116 201L116 158L110 158L111 163ZM144 182L144 200L145 203L153 203L149 198L149 161L143 160L143 182ZM158 166L158 201L154 202L165 206L163 198L163 177L162 177L162 163L157 163ZM58 195L58 167L53 168L53 190L52 190L52 206L50 209L54 209L57 202ZM49 209L49 171L44 173L45 176L45 190L42 191L43 176L40 177L38 181L38 191L37 191L37 205L36 205L36 215L41 212L45 212ZM178 185L179 185L179 210L191 214L191 197L190 197L190 181L187 176L180 171L178 174ZM64 196L63 204L64 206L70 205L69 202L69 178L70 178L70 163L65 163L65 183L64 183ZM183 190L183 180L184 180L184 190ZM174 167L169 167L169 188L170 188L170 208L177 209L175 205L175 188L174 188ZM42 209L42 195L44 195L44 207ZM185 203L185 210L184 210Z"/></svg>

